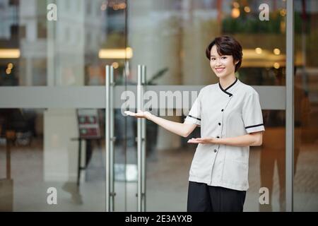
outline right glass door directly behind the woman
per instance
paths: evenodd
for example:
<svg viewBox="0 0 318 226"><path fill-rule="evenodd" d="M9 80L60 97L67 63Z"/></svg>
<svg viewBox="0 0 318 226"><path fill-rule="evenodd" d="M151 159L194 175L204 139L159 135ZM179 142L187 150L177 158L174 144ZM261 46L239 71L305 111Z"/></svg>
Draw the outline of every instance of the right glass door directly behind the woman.
<svg viewBox="0 0 318 226"><path fill-rule="evenodd" d="M245 211L285 210L285 1L129 1L131 69L146 65L145 104L183 122L199 90L218 79L205 57L213 37L232 35L243 47L237 78L261 99L264 141L251 147ZM136 73L131 81L137 82ZM152 93L153 92L153 93ZM155 101L154 101L155 100ZM199 137L199 128L189 136ZM146 122L146 210L185 211L196 146ZM269 201L259 198L266 189Z"/></svg>

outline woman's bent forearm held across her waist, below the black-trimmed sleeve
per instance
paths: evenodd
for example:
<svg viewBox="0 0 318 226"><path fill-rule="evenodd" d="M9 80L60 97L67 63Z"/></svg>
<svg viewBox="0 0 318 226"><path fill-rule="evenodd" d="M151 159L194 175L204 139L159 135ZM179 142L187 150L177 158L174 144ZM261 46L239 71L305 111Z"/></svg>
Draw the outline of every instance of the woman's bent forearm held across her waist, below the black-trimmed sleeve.
<svg viewBox="0 0 318 226"><path fill-rule="evenodd" d="M217 139L213 139L213 141L216 144L241 146L241 147L259 146L262 143L259 136L254 136L251 134L246 134L243 136L228 137L228 138L217 138Z"/></svg>

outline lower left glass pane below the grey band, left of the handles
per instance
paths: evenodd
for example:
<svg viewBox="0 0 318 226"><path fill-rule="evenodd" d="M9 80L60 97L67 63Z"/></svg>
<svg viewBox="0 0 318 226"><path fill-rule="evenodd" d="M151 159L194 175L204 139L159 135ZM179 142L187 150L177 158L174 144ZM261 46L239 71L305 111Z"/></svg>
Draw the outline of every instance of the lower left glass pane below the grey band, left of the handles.
<svg viewBox="0 0 318 226"><path fill-rule="evenodd" d="M105 210L104 114L81 110L0 109L1 211Z"/></svg>

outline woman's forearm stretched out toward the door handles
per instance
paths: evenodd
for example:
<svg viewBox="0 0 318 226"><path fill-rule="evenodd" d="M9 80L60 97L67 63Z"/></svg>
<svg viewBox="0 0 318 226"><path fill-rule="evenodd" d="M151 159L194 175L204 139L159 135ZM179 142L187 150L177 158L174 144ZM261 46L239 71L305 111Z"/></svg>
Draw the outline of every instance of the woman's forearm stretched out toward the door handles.
<svg viewBox="0 0 318 226"><path fill-rule="evenodd" d="M147 119L153 121L155 124L158 124L159 126L162 126L163 128L167 129L168 131L172 133L176 133L179 136L187 137L189 136L189 133L191 129L187 124L182 124L175 121L169 121L167 119L163 119L160 117L157 117L153 114L151 114ZM193 130L193 129L192 129Z"/></svg>

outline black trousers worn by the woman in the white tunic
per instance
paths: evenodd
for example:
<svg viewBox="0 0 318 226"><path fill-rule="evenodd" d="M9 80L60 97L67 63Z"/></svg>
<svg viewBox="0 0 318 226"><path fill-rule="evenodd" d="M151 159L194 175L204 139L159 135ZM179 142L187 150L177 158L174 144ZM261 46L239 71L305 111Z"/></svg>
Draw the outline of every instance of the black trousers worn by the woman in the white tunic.
<svg viewBox="0 0 318 226"><path fill-rule="evenodd" d="M189 182L188 212L242 212L246 191Z"/></svg>

